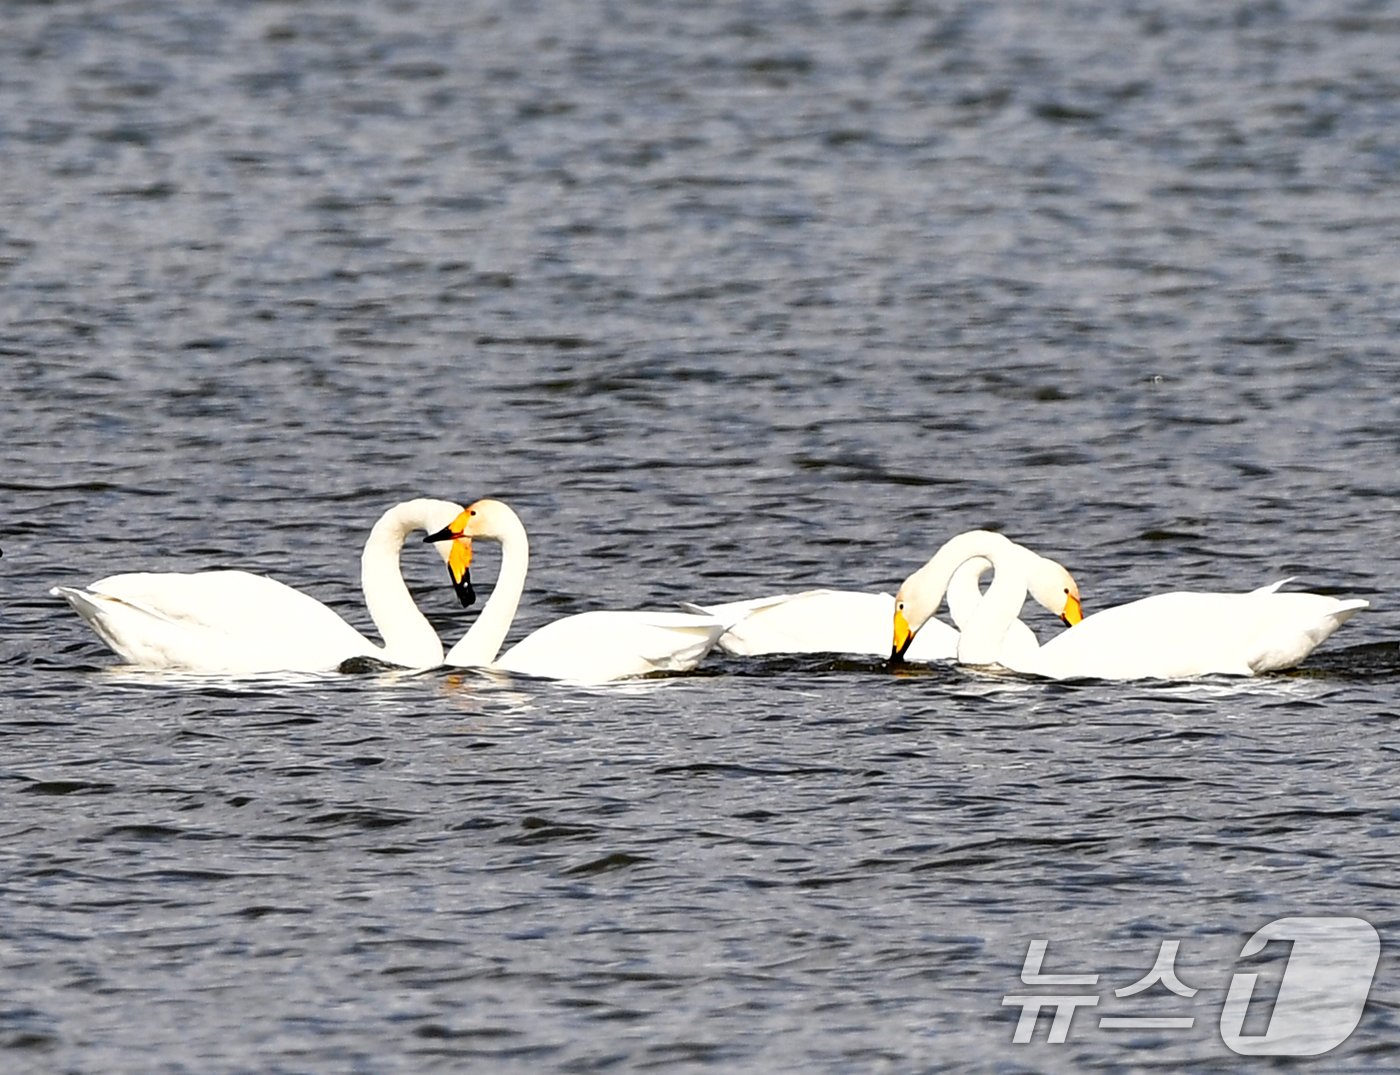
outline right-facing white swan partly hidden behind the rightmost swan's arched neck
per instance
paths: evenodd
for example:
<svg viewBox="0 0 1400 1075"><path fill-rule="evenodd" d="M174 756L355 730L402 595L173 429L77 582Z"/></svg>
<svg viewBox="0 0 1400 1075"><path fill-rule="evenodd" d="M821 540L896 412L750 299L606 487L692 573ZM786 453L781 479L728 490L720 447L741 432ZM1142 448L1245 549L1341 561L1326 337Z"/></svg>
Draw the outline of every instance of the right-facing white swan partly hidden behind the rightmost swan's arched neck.
<svg viewBox="0 0 1400 1075"><path fill-rule="evenodd" d="M1065 613L1064 595L1057 582L1064 568L1025 546L1011 543L1026 558L1025 574L1037 579L1032 596L1044 598L1050 612ZM948 612L962 624L981 600L979 579L991 570L991 561L973 557L953 572L948 584ZM1049 582L1044 579L1049 578ZM1042 602L1044 603L1044 602ZM720 648L736 656L766 654L864 654L889 655L889 624L895 598L853 589L808 589L798 593L774 593L724 605L686 605L732 623L720 638ZM1075 613L1078 614L1078 609ZM1068 620L1067 620L1068 623ZM1007 630L1005 645L1033 651L1040 645L1035 631L1019 619ZM942 620L930 619L904 654L906 661L951 661L958 655L958 630Z"/></svg>

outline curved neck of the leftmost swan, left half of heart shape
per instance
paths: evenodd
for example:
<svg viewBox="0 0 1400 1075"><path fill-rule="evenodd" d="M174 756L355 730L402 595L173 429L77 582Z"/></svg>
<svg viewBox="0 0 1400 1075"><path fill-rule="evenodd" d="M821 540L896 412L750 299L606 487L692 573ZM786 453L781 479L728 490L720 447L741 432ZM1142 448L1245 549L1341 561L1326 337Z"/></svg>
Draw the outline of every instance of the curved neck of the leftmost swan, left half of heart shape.
<svg viewBox="0 0 1400 1075"><path fill-rule="evenodd" d="M396 504L374 524L360 557L360 585L364 588L365 607L384 638L384 659L396 665L433 668L442 663L442 640L419 612L399 570L405 538L430 526L441 515L440 501L410 500Z"/></svg>

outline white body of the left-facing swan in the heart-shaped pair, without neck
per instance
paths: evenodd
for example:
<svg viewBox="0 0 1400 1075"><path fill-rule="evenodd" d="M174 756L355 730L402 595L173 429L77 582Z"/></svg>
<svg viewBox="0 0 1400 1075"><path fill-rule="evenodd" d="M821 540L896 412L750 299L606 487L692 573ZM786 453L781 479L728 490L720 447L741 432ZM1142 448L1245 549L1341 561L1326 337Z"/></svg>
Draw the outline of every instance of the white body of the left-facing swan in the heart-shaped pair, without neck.
<svg viewBox="0 0 1400 1075"><path fill-rule="evenodd" d="M606 683L652 672L689 672L724 634L713 616L686 612L584 612L554 620L507 649L491 666L574 683Z"/></svg>

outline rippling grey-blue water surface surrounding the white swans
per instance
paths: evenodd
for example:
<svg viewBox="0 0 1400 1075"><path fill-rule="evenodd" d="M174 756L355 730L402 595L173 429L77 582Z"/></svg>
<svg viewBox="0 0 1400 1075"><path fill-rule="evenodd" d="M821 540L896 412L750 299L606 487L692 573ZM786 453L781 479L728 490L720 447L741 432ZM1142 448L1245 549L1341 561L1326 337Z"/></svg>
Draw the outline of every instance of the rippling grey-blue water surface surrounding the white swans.
<svg viewBox="0 0 1400 1075"><path fill-rule="evenodd" d="M1313 1069L1400 1065L1392 6L0 17L0 1068L1268 1067L1219 1012L1281 915L1383 941ZM578 690L136 675L46 595L237 565L367 627L413 496L521 512L517 634L972 526L1089 610L1373 607L1256 682ZM1037 938L1103 1001L1016 1046ZM1169 939L1200 991L1114 998Z"/></svg>

